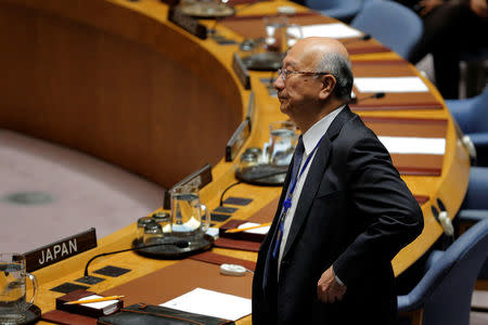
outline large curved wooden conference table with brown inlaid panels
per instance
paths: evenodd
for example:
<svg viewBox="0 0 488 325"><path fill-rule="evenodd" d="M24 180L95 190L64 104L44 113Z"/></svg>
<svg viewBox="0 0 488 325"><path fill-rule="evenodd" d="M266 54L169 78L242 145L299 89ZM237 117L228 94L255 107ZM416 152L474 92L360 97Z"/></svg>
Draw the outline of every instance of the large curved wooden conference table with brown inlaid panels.
<svg viewBox="0 0 488 325"><path fill-rule="evenodd" d="M208 162L213 180L201 190L201 200L209 210L218 208L224 188L236 181L240 155L268 141L271 121L287 119L269 91L266 79L271 73L249 72L251 89L241 82L233 69L239 42L259 34L262 16L275 15L283 5L296 9L292 23L335 23L292 2L235 0L230 4L235 16L200 21L234 41L219 43L169 22L169 6L156 0L1 0L0 127L79 150L166 188ZM425 223L423 233L393 260L399 275L442 235L434 216L442 208L439 202L450 219L455 216L467 187L470 157L442 98L423 75L374 39L345 42L355 77L415 76L428 87L424 93L363 101L369 94L355 87L358 103L351 107L368 126L384 136L445 139L440 155L391 154L422 207ZM228 141L248 117L249 136L233 160L226 161ZM230 218L265 216L269 220L280 191L245 183L233 186L226 197L252 202L230 205L235 210ZM53 310L55 298L63 295L51 289L76 284L91 257L131 247L138 217L134 224L99 238L97 248L35 271L40 285L35 303L42 312ZM226 221L213 222L218 227ZM150 259L133 251L107 256L93 261L90 270L115 265L130 272L101 276L105 281L89 289L133 291L133 297L126 294L126 304L144 298L143 302L158 304L198 286L251 298L252 274L219 275L218 262L237 261L252 268L255 250L222 244L201 260ZM237 323L248 324L251 316Z"/></svg>

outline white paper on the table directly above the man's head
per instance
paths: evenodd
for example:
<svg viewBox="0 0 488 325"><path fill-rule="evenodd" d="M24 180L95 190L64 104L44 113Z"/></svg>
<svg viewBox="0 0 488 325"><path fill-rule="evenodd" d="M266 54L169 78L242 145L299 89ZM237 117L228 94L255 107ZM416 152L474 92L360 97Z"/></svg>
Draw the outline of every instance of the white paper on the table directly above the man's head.
<svg viewBox="0 0 488 325"><path fill-rule="evenodd" d="M288 35L295 38L307 38L307 37L331 37L331 38L349 38L349 37L361 37L363 34L358 29L349 27L342 23L334 24L319 24L301 26L301 35L298 28L290 28Z"/></svg>

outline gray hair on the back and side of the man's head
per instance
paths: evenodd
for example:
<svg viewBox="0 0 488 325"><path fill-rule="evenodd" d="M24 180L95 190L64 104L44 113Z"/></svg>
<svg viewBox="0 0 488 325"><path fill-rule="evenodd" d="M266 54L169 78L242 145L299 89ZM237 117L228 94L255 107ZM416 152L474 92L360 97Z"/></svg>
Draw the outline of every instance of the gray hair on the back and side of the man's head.
<svg viewBox="0 0 488 325"><path fill-rule="evenodd" d="M330 73L337 81L334 93L339 100L349 101L354 76L350 61L338 53L326 53L317 64L318 73Z"/></svg>

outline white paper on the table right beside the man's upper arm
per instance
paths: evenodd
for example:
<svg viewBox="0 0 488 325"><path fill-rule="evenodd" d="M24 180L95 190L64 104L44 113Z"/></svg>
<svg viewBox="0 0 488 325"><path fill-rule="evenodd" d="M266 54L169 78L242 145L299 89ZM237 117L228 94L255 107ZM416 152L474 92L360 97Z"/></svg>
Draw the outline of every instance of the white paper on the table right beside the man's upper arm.
<svg viewBox="0 0 488 325"><path fill-rule="evenodd" d="M390 154L444 155L446 139L413 136L377 136Z"/></svg>

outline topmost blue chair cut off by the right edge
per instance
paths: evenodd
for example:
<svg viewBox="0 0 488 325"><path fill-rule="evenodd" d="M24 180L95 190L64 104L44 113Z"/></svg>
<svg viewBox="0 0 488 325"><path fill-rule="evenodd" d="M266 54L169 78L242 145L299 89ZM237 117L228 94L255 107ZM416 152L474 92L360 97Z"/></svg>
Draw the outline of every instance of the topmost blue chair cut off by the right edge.
<svg viewBox="0 0 488 325"><path fill-rule="evenodd" d="M466 100L446 100L461 130L476 148L476 165L488 167L488 87Z"/></svg>

